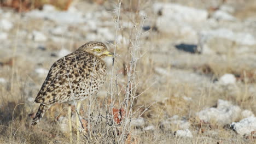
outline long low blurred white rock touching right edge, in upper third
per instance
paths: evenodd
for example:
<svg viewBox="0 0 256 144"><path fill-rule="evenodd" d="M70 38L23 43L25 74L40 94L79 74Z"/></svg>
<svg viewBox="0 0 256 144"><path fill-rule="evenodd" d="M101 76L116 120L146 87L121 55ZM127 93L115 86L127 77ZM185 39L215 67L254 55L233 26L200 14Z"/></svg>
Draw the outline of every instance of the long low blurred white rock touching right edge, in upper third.
<svg viewBox="0 0 256 144"><path fill-rule="evenodd" d="M205 37L206 40L212 38L223 38L235 41L237 44L241 45L254 45L256 44L256 40L254 39L252 34L249 33L235 33L230 29L219 28L210 31L201 31L201 35Z"/></svg>

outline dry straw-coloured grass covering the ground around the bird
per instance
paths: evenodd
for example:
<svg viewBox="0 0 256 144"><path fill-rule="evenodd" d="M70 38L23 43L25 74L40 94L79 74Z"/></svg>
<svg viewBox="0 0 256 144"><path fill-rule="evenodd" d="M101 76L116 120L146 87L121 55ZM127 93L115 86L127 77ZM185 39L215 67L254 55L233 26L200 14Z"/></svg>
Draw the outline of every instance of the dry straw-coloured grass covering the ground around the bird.
<svg viewBox="0 0 256 144"><path fill-rule="evenodd" d="M109 3L116 4L114 10L108 9ZM150 11L153 1L120 3L111 1L101 5L115 11L112 13L115 41L108 46L110 51L115 51L116 57L113 67L112 64L108 66L109 77L103 92L83 101L80 143L255 143L255 137L240 136L230 128L219 127L214 122L202 123L196 117L197 112L216 105L218 99L232 101L241 109L256 114L256 95L250 91L250 88L256 87L256 73L255 67L245 62L247 58L232 53L224 54L223 58L219 55L179 52L168 42L176 39L173 35L153 29L143 31L145 23L155 23L156 15ZM140 11L146 11L148 16L140 15ZM29 39L19 40L18 34L15 34L25 27L29 31L43 27L44 20L28 20L31 22L28 26L23 23L22 17L18 20L20 22L15 23L11 31L13 36L12 44L7 47L8 55L0 58L0 77L7 80L0 83L0 143L69 143L68 131L65 132L68 129L67 104L52 106L38 125L31 126L33 112L36 112L38 105L32 104L33 101L29 99L36 97L46 76L35 74L34 69L49 69L57 58L49 58L49 55L33 48L27 48L19 55L18 49L26 49L26 44L31 43ZM125 21L131 22L133 27L121 27L120 23ZM75 27L69 28L74 36L65 44L73 51L85 41L76 39L78 30ZM117 35L122 35L128 41L117 43ZM49 52L61 50L60 44L54 41L48 41L45 45L49 47ZM40 63L33 58L38 58ZM176 59L186 58L189 60L176 63ZM166 71L160 73L156 68ZM205 82L195 82L195 79L189 82L185 80L190 74L195 74L214 81L226 73L236 76L235 91L207 87ZM117 113L121 115L119 118ZM166 119L174 115L190 122L193 138L178 137L174 135L174 131L179 129L178 125L164 124ZM131 124L141 117L145 119L143 125ZM154 128L144 129L148 126ZM73 139L76 142L74 134L75 130Z"/></svg>

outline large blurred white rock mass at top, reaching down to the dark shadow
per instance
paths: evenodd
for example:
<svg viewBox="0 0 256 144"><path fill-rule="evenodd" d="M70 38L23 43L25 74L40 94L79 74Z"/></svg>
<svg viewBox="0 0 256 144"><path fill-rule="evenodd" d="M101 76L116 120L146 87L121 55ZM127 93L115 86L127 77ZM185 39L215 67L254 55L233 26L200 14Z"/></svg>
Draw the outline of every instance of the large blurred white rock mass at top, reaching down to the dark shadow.
<svg viewBox="0 0 256 144"><path fill-rule="evenodd" d="M172 3L156 3L153 10L155 14L161 13L156 19L158 30L174 37L182 37L184 43L197 43L195 27L203 26L208 17L206 10Z"/></svg>

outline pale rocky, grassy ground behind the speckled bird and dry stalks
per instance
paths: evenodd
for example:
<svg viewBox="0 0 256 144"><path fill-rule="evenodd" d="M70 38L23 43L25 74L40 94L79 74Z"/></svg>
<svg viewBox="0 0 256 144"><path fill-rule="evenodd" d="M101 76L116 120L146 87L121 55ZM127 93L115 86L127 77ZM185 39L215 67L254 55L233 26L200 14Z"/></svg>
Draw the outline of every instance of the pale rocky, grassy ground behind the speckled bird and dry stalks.
<svg viewBox="0 0 256 144"><path fill-rule="evenodd" d="M33 101L51 65L89 41L116 50L112 70L121 98L129 54L138 51L132 104L137 114L126 143L255 142L256 1L0 4L0 143L68 141L62 110L67 105L50 109L34 128ZM105 60L110 75L112 59ZM98 101L105 100L108 88L109 77Z"/></svg>

